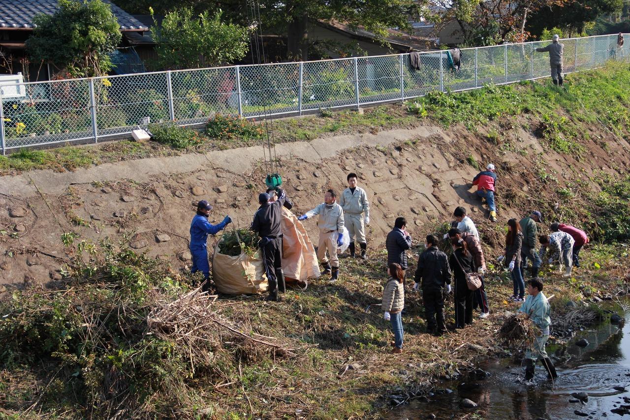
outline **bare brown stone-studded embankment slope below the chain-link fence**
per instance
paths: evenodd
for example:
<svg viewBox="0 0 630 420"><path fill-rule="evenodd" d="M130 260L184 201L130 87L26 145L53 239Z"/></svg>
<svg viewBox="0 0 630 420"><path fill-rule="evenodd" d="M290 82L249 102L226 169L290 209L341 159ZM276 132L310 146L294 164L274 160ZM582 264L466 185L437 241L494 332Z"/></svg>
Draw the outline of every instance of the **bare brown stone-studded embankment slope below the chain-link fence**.
<svg viewBox="0 0 630 420"><path fill-rule="evenodd" d="M590 127L581 161L541 143L534 132L505 127L512 149L493 144L464 127L416 127L375 134L328 137L280 144L277 155L284 187L303 213L323 199L323 192L345 188L348 172L357 172L371 197L370 248L381 245L396 216L406 216L416 240L450 219L455 206L472 209L484 239L498 245L492 232L510 217L534 206L551 209L555 192L567 184L597 189L594 171L627 173L630 144ZM605 139L607 146L600 145ZM518 153L517 153L518 151ZM246 226L258 206L265 172L260 147L203 154L123 161L72 173L32 171L0 179L0 291L28 283L54 287L69 259L62 235L79 240L130 243L132 248L160 255L175 265L188 264L188 228L193 203L208 199L211 219L229 214ZM478 172L471 166L492 161L498 167L498 204L502 223L491 226L486 209L470 187ZM544 184L544 175L558 179ZM537 204L534 204L537 203ZM561 214L560 208L556 213ZM316 237L316 223L307 221ZM167 236L158 235L166 234ZM66 235L66 241L71 240ZM216 238L218 239L218 237Z"/></svg>

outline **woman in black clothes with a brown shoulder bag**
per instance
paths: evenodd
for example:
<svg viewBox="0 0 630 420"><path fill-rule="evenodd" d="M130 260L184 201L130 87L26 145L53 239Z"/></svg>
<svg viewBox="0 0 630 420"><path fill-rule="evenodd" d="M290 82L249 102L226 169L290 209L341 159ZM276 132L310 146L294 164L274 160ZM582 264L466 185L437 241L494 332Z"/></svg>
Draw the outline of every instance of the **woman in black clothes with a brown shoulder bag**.
<svg viewBox="0 0 630 420"><path fill-rule="evenodd" d="M449 257L449 265L455 277L455 328L464 328L473 324L474 294L466 281L466 273L474 269L473 255L463 239L452 238L451 245L453 252Z"/></svg>

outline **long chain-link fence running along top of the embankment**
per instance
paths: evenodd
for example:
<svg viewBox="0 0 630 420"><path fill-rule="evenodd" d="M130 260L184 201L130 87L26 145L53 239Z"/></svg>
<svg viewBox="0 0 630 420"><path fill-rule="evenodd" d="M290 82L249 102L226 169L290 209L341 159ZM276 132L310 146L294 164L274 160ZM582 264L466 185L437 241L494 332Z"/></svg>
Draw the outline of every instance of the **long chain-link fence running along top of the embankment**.
<svg viewBox="0 0 630 420"><path fill-rule="evenodd" d="M564 72L628 61L630 35L571 38ZM0 147L98 142L149 122L202 125L217 114L301 115L549 76L546 42L338 60L232 66L35 83L0 81ZM412 63L415 64L412 66ZM12 83L12 84L11 84Z"/></svg>

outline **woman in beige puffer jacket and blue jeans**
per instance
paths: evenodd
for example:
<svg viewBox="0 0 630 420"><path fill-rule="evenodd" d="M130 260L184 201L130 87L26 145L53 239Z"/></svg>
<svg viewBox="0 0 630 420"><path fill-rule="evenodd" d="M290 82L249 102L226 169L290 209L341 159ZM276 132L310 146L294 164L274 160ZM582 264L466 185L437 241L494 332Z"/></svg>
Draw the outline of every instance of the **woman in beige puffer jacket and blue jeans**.
<svg viewBox="0 0 630 420"><path fill-rule="evenodd" d="M383 318L391 321L394 341L392 341L392 353L403 352L403 319L401 315L404 309L404 274L399 264L392 262L387 265L387 283L383 289L381 309Z"/></svg>

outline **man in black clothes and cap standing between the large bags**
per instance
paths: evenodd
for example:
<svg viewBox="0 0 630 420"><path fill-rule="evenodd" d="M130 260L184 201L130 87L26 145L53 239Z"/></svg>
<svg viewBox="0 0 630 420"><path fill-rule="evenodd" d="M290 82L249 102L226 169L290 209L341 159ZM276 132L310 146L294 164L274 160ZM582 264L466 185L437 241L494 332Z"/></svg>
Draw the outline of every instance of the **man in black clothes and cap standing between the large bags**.
<svg viewBox="0 0 630 420"><path fill-rule="evenodd" d="M258 195L260 207L254 214L251 230L260 235L260 252L265 265L265 274L269 282L269 296L265 300L278 300L278 290L285 291L284 274L282 273L282 206L285 204L283 190L278 191L278 199L269 202L269 194L266 192Z"/></svg>

